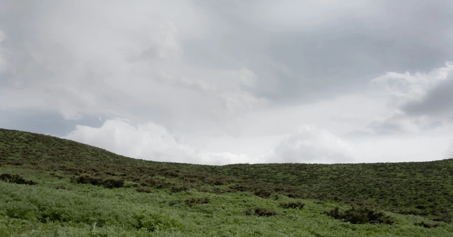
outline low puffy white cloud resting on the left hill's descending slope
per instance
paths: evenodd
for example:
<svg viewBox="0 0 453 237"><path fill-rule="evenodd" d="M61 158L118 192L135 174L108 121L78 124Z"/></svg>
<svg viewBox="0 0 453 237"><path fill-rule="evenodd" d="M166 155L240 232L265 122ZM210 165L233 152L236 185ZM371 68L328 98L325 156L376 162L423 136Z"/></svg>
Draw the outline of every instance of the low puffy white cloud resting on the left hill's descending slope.
<svg viewBox="0 0 453 237"><path fill-rule="evenodd" d="M77 125L62 138L144 160L215 165L256 162L244 154L196 149L178 141L180 139L162 125L153 122L132 125L121 118L108 119L98 128Z"/></svg>

